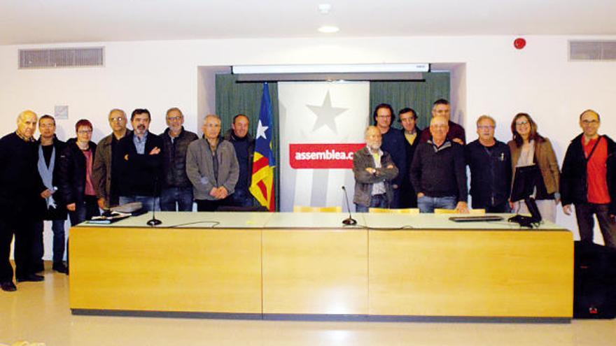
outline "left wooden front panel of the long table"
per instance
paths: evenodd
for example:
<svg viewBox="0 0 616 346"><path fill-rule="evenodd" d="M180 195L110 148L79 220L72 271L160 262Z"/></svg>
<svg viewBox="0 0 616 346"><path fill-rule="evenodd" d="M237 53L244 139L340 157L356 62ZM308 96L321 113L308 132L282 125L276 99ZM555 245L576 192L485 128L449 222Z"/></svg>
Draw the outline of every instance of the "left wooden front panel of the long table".
<svg viewBox="0 0 616 346"><path fill-rule="evenodd" d="M73 227L71 308L261 312L260 230Z"/></svg>

